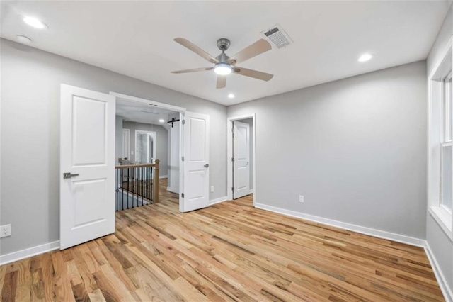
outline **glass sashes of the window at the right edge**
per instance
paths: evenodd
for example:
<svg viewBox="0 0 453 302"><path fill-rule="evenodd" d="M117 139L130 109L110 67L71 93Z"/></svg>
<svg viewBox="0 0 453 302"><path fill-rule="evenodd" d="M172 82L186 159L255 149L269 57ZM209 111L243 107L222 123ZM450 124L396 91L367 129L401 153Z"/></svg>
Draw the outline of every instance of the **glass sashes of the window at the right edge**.
<svg viewBox="0 0 453 302"><path fill-rule="evenodd" d="M440 206L452 213L452 72L440 82L442 98L441 198Z"/></svg>

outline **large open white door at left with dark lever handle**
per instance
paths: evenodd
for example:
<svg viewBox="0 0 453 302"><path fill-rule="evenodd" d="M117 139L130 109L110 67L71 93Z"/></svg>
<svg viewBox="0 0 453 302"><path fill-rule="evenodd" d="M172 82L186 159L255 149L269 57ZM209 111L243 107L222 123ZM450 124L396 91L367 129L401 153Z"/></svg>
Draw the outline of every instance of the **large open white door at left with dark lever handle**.
<svg viewBox="0 0 453 302"><path fill-rule="evenodd" d="M62 84L60 249L115 232L115 96Z"/></svg>

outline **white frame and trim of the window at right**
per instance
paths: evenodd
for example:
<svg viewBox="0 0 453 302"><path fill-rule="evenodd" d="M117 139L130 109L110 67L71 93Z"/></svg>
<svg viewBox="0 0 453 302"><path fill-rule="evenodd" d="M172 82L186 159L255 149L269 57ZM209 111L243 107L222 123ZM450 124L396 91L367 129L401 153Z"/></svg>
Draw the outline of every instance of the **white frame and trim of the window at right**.
<svg viewBox="0 0 453 302"><path fill-rule="evenodd" d="M445 115L445 110L453 110L445 104L445 80L451 77L452 39L428 77L428 211L453 241L452 211L442 204L442 148L452 145L453 134L452 117Z"/></svg>

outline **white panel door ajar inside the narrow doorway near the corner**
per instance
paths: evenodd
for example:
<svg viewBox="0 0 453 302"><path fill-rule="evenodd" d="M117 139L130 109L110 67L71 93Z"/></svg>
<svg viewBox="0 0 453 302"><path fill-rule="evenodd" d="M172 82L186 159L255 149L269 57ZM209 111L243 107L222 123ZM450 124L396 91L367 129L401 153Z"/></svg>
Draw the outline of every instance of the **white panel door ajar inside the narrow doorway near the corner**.
<svg viewBox="0 0 453 302"><path fill-rule="evenodd" d="M250 125L233 122L233 198L250 194Z"/></svg>

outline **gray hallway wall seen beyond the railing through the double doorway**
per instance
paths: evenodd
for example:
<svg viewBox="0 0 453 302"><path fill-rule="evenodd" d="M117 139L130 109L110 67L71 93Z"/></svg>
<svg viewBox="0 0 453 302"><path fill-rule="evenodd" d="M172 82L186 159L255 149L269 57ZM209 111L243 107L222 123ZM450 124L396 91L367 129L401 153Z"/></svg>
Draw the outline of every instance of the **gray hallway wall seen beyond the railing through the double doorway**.
<svg viewBox="0 0 453 302"><path fill-rule="evenodd" d="M156 159L159 159L159 174L166 176L168 172L168 130L161 125L153 125L146 123L135 123L124 121L123 129L130 130L130 150L134 151L134 155L130 155L130 160L135 160L135 130L153 131L156 133Z"/></svg>

